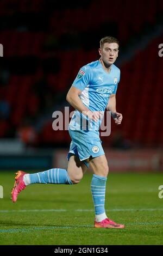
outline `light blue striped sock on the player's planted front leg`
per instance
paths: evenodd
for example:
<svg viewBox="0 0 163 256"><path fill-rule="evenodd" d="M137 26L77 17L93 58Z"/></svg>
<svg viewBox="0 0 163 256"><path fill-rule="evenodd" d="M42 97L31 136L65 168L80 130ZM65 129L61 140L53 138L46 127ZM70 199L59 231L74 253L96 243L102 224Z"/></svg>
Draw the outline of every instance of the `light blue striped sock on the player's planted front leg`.
<svg viewBox="0 0 163 256"><path fill-rule="evenodd" d="M93 174L91 181L91 192L95 205L96 221L100 222L107 218L105 214L105 189L106 177Z"/></svg>

